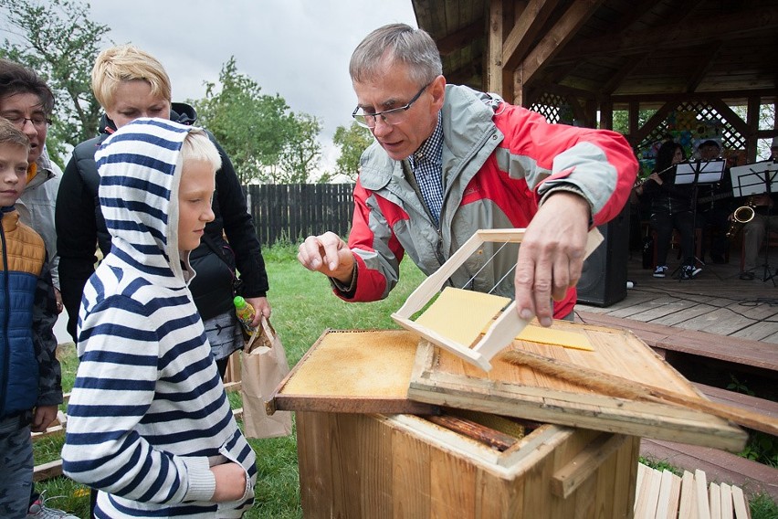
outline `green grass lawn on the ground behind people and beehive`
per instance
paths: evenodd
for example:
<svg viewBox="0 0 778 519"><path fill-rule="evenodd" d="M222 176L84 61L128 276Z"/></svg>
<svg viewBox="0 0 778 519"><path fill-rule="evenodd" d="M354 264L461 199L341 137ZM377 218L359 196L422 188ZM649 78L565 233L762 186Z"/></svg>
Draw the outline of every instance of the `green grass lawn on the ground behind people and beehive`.
<svg viewBox="0 0 778 519"><path fill-rule="evenodd" d="M400 282L390 296L381 302L348 303L336 298L329 282L321 274L304 270L296 260L297 247L280 244L263 251L271 290L271 322L284 344L289 365L295 365L327 328L367 330L396 328L390 314L397 310L424 275L409 260L403 262ZM78 366L75 348L60 351L62 381L65 391L73 386ZM240 395L231 393L230 404L240 408ZM59 458L63 436L39 440L35 445L36 464ZM297 444L294 435L268 440L249 440L257 452L256 503L246 514L249 519L290 519L302 517ZM657 470L678 469L666 462L641 459ZM54 478L37 484L47 490L50 506L67 510L79 517L89 516L89 491L67 478ZM61 497L58 497L61 496ZM752 519L778 519L778 505L767 494L750 502Z"/></svg>

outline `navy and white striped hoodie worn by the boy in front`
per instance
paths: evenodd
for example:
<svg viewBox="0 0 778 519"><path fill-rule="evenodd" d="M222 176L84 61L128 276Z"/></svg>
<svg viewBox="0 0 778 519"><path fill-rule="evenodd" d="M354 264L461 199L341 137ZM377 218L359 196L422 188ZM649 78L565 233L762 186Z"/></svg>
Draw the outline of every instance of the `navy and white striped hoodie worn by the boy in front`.
<svg viewBox="0 0 778 519"><path fill-rule="evenodd" d="M110 254L84 288L79 371L63 471L100 490L96 517L240 517L255 454L237 428L178 250L180 148L202 130L160 119L123 126L95 155ZM247 471L243 497L212 503L210 466Z"/></svg>

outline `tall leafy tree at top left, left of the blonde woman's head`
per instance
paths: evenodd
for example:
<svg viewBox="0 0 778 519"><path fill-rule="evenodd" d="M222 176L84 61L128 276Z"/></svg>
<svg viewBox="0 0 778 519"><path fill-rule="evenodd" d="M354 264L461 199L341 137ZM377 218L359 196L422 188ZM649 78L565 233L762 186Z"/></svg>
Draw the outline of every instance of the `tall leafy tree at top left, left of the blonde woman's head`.
<svg viewBox="0 0 778 519"><path fill-rule="evenodd" d="M4 0L0 57L35 70L57 100L47 147L53 158L98 132L100 104L89 80L103 37L110 32L89 20L89 4L79 0Z"/></svg>

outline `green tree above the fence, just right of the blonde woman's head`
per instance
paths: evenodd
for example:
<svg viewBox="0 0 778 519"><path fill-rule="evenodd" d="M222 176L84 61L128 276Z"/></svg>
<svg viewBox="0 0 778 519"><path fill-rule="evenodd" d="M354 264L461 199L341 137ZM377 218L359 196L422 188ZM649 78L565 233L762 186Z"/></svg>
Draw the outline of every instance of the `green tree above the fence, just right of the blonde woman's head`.
<svg viewBox="0 0 778 519"><path fill-rule="evenodd" d="M278 94L263 94L257 81L237 71L235 57L222 67L218 85L205 83L204 99L189 102L224 146L242 184L308 181L301 171L317 165L321 124L295 115Z"/></svg>

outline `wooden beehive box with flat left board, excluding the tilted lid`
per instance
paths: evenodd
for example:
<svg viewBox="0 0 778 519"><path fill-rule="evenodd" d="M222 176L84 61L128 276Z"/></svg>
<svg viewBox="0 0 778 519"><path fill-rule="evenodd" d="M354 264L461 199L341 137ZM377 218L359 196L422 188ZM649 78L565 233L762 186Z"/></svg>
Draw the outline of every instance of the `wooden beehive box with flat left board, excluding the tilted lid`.
<svg viewBox="0 0 778 519"><path fill-rule="evenodd" d="M630 516L638 437L534 423L519 438L505 427L519 419L410 400L416 346L406 331L327 331L279 385L306 517ZM441 427L441 411L512 445Z"/></svg>

